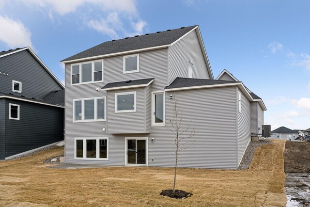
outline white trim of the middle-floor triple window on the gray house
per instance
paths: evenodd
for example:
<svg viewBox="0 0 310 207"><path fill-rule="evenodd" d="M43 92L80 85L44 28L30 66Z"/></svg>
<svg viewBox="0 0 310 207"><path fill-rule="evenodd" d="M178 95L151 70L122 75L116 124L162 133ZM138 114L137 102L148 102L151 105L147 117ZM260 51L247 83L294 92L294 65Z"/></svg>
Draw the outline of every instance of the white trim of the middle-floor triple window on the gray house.
<svg viewBox="0 0 310 207"><path fill-rule="evenodd" d="M105 99L105 118L104 119L97 119L97 99ZM84 101L85 100L94 100L94 119L87 119L84 120ZM75 101L82 101L82 120L75 120L76 115L76 105ZM73 122L103 122L107 120L107 98L106 96L102 97L93 97L93 98L79 98L79 99L73 99Z"/></svg>

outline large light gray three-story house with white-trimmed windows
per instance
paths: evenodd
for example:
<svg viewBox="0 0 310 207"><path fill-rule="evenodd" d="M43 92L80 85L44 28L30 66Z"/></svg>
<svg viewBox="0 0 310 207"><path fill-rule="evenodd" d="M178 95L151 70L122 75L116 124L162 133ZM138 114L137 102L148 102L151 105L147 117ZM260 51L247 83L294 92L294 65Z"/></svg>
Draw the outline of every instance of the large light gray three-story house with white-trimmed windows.
<svg viewBox="0 0 310 207"><path fill-rule="evenodd" d="M195 128L179 166L237 168L250 106L266 110L242 82L214 80L198 26L104 42L62 63L66 163L174 166L177 99L184 127Z"/></svg>

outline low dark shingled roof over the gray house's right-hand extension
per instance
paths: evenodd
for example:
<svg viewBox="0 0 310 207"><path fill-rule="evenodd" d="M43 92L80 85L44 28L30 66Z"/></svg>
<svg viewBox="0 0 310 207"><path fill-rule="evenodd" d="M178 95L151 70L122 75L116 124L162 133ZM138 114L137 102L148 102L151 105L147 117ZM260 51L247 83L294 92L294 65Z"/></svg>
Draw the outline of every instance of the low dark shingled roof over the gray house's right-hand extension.
<svg viewBox="0 0 310 207"><path fill-rule="evenodd" d="M236 83L236 81L228 80L210 80L210 79L190 79L190 78L176 78L173 82L167 86L165 89L172 88L184 88L192 86L202 86L202 85L216 85L216 84L227 84Z"/></svg>

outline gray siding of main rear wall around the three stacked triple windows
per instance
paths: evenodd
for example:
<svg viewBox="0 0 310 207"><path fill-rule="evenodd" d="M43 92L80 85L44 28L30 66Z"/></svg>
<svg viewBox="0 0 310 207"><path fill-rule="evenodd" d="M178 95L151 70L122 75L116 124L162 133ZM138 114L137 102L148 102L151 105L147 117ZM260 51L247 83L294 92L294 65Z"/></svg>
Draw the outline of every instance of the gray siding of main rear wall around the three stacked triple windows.
<svg viewBox="0 0 310 207"><path fill-rule="evenodd" d="M109 128L109 113L107 121L103 122L80 122L73 123L73 99L87 98L87 97L101 97L107 96L106 91L96 92L97 87L102 87L109 82L125 81L125 80L138 80L145 78L154 78L151 84L152 91L164 90L168 85L168 49L159 49L139 53L140 71L139 73L123 74L123 55L114 56L104 59L104 82L90 83L83 85L71 85L70 64L65 65L65 82L66 82L66 97L65 97L65 156L66 163L93 163L93 164L108 164L108 165L124 165L125 163L125 140L126 136L142 136L149 137L149 134L127 134L127 135L112 135L108 134ZM149 93L145 88L146 94ZM114 97L113 97L114 99ZM149 95L151 99L151 95ZM107 103L109 98L107 99ZM149 113L147 111L147 113ZM150 116L150 114L149 114ZM145 120L142 117L142 120ZM145 130L148 130L150 121L146 123ZM106 128L107 132L102 129ZM80 160L74 159L74 138L80 137L109 137L109 160ZM149 143L151 141L149 140Z"/></svg>

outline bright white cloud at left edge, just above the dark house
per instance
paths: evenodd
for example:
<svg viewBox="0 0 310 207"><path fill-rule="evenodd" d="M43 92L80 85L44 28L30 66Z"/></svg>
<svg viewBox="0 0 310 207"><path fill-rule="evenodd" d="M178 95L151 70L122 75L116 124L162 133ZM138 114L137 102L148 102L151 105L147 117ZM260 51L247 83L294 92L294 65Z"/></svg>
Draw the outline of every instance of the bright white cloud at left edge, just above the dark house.
<svg viewBox="0 0 310 207"><path fill-rule="evenodd" d="M31 47L31 32L19 20L0 16L0 41L10 48Z"/></svg>

